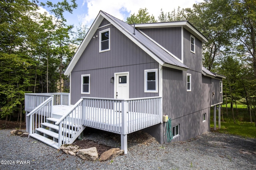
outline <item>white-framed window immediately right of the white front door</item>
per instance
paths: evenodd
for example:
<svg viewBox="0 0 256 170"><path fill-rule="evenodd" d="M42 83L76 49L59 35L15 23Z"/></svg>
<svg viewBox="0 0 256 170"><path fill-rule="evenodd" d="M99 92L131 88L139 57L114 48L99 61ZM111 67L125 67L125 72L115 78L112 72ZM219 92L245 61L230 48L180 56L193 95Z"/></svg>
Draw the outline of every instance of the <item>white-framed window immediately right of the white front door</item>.
<svg viewBox="0 0 256 170"><path fill-rule="evenodd" d="M144 70L144 92L158 92L158 69Z"/></svg>

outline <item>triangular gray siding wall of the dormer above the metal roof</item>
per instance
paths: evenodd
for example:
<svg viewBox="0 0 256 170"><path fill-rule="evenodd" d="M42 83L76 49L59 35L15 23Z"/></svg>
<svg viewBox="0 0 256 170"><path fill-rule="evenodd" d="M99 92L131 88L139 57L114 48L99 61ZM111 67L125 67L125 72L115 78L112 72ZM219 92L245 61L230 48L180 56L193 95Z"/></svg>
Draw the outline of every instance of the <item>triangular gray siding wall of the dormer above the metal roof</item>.
<svg viewBox="0 0 256 170"><path fill-rule="evenodd" d="M181 27L140 30L181 60Z"/></svg>

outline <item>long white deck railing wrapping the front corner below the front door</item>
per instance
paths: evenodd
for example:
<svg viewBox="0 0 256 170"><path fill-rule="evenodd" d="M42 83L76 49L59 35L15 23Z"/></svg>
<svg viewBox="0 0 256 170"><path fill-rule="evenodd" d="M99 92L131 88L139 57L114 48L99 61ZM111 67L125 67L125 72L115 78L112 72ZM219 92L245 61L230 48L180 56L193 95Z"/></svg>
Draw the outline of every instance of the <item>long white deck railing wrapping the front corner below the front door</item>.
<svg viewBox="0 0 256 170"><path fill-rule="evenodd" d="M161 97L83 99L83 120L88 127L126 135L162 123Z"/></svg>

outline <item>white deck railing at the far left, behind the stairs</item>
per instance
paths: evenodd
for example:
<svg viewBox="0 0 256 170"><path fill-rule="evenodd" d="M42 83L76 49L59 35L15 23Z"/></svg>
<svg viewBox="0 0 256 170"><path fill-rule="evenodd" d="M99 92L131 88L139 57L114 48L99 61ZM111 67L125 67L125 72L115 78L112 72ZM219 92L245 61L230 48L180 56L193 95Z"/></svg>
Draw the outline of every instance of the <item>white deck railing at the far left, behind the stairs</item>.
<svg viewBox="0 0 256 170"><path fill-rule="evenodd" d="M53 96L53 105L70 105L69 93L26 93L25 111L30 112Z"/></svg>

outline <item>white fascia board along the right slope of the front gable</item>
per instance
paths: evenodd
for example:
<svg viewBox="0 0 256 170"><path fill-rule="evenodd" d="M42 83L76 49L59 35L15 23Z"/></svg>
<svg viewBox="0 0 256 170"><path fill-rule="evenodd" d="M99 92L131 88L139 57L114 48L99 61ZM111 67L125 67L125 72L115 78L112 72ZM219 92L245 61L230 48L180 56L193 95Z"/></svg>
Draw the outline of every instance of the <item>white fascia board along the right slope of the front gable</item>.
<svg viewBox="0 0 256 170"><path fill-rule="evenodd" d="M108 20L114 27L116 27L120 32L122 32L126 37L128 37L132 42L134 42L136 45L138 45L143 51L145 51L148 55L150 55L155 61L157 61L159 64L163 65L164 61L159 59L154 53L152 53L148 48L146 48L144 45L142 45L136 38L134 38L130 33L125 31L122 27L120 27L118 24L116 24L113 20L108 18L108 16L102 14L106 20Z"/></svg>

